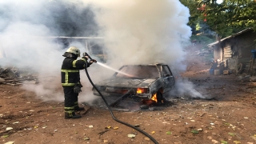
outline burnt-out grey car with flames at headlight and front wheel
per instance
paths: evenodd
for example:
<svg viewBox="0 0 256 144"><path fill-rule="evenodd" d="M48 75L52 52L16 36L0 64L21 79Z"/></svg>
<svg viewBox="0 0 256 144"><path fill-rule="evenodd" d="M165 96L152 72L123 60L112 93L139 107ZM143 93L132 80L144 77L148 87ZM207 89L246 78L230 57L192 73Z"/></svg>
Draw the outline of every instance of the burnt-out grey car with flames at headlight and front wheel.
<svg viewBox="0 0 256 144"><path fill-rule="evenodd" d="M116 105L124 98L139 98L162 103L163 95L174 87L175 80L166 64L125 65L111 78L95 84L100 93L106 98L117 96L118 99L110 104ZM93 88L94 95L100 95Z"/></svg>

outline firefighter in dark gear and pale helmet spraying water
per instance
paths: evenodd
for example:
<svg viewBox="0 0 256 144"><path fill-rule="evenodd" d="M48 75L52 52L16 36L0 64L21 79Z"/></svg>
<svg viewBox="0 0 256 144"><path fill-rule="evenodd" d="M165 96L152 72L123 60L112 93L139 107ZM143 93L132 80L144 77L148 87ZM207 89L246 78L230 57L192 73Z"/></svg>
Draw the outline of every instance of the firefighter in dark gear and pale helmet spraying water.
<svg viewBox="0 0 256 144"><path fill-rule="evenodd" d="M64 110L65 118L81 118L81 115L75 114L75 111L85 110L84 107L78 106L78 94L82 91L82 84L80 83L79 70L85 69L86 63L89 67L94 61L87 62L88 57L84 56L81 59L80 50L71 46L62 55L64 58L62 62L62 87L64 90Z"/></svg>

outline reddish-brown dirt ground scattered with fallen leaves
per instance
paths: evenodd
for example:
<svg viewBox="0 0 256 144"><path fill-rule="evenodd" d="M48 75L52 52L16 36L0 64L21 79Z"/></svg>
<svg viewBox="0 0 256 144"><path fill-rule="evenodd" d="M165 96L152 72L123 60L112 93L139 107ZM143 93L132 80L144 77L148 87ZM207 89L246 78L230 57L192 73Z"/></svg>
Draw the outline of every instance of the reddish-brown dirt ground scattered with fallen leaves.
<svg viewBox="0 0 256 144"><path fill-rule="evenodd" d="M193 53L192 53L193 52ZM234 74L210 75L190 50L180 78L206 98L173 96L154 110L113 110L115 118L150 134L158 143L256 143L256 87ZM82 104L80 104L82 106ZM85 105L82 118L64 119L63 102L43 102L21 86L0 85L1 143L154 143L116 122L104 106ZM150 107L151 108L151 107ZM128 137L128 134L133 138ZM130 135L129 135L130 136Z"/></svg>

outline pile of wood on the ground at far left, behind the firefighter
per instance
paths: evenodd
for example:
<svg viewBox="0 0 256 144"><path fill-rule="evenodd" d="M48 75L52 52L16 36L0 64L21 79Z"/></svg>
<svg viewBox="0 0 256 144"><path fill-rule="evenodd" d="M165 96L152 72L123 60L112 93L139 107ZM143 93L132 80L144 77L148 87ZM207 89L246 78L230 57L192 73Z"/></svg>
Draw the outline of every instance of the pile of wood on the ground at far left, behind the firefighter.
<svg viewBox="0 0 256 144"><path fill-rule="evenodd" d="M33 74L20 72L15 67L0 68L0 84L21 85L24 81L38 82Z"/></svg>

